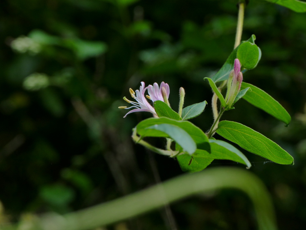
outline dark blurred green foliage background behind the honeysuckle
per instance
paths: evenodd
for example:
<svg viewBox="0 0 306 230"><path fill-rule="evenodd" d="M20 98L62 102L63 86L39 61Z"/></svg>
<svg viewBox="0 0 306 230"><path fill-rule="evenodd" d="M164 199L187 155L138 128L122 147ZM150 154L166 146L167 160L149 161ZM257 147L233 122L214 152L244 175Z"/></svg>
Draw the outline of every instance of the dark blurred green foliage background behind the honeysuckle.
<svg viewBox="0 0 306 230"><path fill-rule="evenodd" d="M132 143L149 113L132 113L129 88L167 82L178 108L207 100L191 121L212 124L212 76L233 49L237 0L3 0L0 3L0 226L26 213L67 213L183 174L175 159ZM244 151L268 187L280 229L306 224L306 14L250 0L242 40L262 59L244 81L292 116L289 127L244 100L223 120L248 125L293 155L294 166ZM220 138L217 135L216 138ZM155 140L152 140L155 141ZM165 143L159 143L165 144ZM215 160L209 167L244 167ZM1 205L0 205L1 206ZM106 229L256 229L241 192L186 198ZM166 211L168 210L168 211ZM173 218L172 218L172 217ZM175 223L174 223L175 222Z"/></svg>

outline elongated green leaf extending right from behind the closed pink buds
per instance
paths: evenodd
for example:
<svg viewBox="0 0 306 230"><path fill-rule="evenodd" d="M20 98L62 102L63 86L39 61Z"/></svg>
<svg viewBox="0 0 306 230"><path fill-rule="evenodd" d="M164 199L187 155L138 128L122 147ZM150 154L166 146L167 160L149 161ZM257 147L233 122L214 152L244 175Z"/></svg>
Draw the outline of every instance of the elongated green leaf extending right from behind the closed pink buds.
<svg viewBox="0 0 306 230"><path fill-rule="evenodd" d="M245 89L247 87L250 87L252 91L248 91L244 95L244 100L271 114L276 119L285 122L286 125L290 123L291 117L289 113L274 98L258 87L242 82L241 89Z"/></svg>

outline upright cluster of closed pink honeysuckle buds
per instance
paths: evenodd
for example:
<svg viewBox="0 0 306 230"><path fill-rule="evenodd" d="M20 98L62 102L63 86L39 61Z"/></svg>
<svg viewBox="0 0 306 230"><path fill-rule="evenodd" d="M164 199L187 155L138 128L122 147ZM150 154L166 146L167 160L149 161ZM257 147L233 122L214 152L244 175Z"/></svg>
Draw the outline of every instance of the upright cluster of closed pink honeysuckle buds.
<svg viewBox="0 0 306 230"><path fill-rule="evenodd" d="M240 72L241 63L238 58L234 61L234 69L230 72L229 79L227 81L227 92L226 92L226 105L230 108L240 91L242 82L242 73Z"/></svg>

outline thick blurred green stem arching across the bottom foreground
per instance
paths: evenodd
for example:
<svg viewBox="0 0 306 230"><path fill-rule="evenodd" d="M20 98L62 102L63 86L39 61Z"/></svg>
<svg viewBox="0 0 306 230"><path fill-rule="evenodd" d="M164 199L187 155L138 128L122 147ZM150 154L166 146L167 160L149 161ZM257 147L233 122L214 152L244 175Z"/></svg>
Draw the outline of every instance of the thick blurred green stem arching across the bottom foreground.
<svg viewBox="0 0 306 230"><path fill-rule="evenodd" d="M146 190L64 216L50 214L39 218L37 224L41 228L35 226L28 229L93 229L136 217L188 196L227 188L241 190L248 195L253 203L259 230L277 230L271 197L263 182L255 174L233 167L215 167L200 173L185 174Z"/></svg>

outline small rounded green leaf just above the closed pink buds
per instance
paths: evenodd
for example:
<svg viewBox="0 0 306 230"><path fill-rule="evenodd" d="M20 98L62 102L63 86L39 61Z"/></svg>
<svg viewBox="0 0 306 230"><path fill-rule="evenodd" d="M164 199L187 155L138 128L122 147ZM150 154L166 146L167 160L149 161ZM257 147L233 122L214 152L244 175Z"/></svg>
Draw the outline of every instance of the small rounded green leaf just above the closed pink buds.
<svg viewBox="0 0 306 230"><path fill-rule="evenodd" d="M261 51L256 44L252 44L249 41L244 42L238 47L237 58L242 68L254 69L261 58Z"/></svg>

